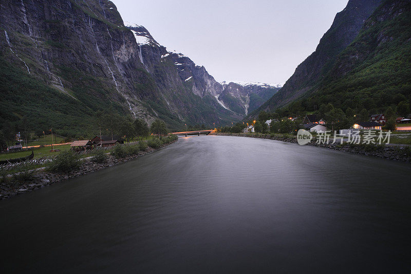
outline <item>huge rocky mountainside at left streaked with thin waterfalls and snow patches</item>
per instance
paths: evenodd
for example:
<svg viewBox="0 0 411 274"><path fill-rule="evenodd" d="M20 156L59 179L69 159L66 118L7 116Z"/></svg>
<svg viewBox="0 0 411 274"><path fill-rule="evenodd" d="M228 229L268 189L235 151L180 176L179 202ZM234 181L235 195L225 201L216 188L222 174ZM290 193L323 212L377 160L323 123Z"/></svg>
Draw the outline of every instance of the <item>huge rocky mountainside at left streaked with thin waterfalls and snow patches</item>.
<svg viewBox="0 0 411 274"><path fill-rule="evenodd" d="M171 129L244 115L216 99L223 86L206 68L124 24L110 1L2 1L0 64L0 124L27 119L38 131L84 135L96 131L97 112Z"/></svg>

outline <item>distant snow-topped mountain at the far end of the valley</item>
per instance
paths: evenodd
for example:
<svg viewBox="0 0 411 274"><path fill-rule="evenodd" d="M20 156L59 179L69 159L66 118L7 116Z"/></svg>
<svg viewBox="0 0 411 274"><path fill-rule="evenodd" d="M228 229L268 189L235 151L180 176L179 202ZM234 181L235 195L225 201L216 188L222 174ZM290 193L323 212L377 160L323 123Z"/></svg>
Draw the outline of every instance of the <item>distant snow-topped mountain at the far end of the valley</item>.
<svg viewBox="0 0 411 274"><path fill-rule="evenodd" d="M281 89L282 84L222 82L223 91L216 96L225 108L242 116L254 111Z"/></svg>

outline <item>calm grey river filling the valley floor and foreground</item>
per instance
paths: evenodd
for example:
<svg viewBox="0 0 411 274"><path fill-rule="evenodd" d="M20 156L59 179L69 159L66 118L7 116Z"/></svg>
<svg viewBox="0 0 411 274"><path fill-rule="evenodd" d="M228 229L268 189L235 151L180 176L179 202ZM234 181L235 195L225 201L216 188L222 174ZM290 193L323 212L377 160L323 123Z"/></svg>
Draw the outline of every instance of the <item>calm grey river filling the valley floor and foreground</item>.
<svg viewBox="0 0 411 274"><path fill-rule="evenodd" d="M411 165L180 138L0 201L2 272L409 272ZM5 272L3 272L5 273Z"/></svg>

